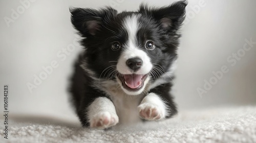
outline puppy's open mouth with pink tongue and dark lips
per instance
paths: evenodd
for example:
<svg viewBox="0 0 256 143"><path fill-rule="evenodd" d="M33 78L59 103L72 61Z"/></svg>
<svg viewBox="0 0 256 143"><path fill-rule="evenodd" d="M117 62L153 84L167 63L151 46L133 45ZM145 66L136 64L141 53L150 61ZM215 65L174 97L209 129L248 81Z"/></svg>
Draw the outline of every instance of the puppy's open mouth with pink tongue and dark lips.
<svg viewBox="0 0 256 143"><path fill-rule="evenodd" d="M130 75L122 75L117 74L117 77L122 82L122 86L131 91L138 91L144 86L144 81L147 78L146 75L137 75L137 74L130 74Z"/></svg>

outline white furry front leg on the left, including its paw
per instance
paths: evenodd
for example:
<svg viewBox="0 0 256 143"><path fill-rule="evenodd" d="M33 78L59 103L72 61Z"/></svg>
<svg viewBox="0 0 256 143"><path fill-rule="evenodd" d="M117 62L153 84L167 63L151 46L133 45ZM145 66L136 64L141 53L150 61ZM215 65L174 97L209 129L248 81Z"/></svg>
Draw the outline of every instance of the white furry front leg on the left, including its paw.
<svg viewBox="0 0 256 143"><path fill-rule="evenodd" d="M96 98L88 107L91 128L105 129L114 126L119 119L112 101L105 97Z"/></svg>

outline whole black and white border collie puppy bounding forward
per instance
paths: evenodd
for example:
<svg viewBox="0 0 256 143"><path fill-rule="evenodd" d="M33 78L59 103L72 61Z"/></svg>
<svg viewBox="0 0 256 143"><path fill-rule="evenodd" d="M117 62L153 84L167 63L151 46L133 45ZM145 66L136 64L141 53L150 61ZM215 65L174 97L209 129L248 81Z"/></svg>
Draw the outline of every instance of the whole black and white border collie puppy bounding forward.
<svg viewBox="0 0 256 143"><path fill-rule="evenodd" d="M84 47L70 91L84 127L104 129L177 113L170 89L186 5L141 5L121 13L111 7L70 10Z"/></svg>

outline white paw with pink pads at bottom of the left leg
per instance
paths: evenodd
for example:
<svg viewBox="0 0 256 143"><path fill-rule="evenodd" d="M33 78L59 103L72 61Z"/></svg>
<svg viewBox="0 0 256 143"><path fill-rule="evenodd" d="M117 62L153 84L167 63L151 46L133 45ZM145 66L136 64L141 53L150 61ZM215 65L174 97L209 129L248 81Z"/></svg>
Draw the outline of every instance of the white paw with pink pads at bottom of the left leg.
<svg viewBox="0 0 256 143"><path fill-rule="evenodd" d="M90 127L105 129L115 126L118 122L119 119L115 113L110 113L108 111L99 112L90 119Z"/></svg>

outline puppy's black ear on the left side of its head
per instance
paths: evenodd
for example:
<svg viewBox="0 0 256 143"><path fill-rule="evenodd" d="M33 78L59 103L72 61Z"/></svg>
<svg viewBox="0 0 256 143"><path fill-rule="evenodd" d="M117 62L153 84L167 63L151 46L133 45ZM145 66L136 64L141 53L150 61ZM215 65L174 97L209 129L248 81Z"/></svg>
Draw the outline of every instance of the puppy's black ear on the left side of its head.
<svg viewBox="0 0 256 143"><path fill-rule="evenodd" d="M101 10L70 8L71 22L81 36L95 36L103 23L110 22L117 11L107 7Z"/></svg>

